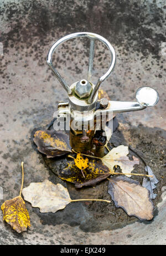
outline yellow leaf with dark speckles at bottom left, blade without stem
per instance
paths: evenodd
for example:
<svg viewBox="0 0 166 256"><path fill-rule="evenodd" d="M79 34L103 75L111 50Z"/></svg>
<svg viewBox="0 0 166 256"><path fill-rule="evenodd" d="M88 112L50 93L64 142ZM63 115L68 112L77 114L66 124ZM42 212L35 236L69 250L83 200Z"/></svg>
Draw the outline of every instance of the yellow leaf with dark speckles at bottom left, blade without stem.
<svg viewBox="0 0 166 256"><path fill-rule="evenodd" d="M12 226L18 233L26 231L30 227L30 217L21 196L5 201L1 209L3 220Z"/></svg>

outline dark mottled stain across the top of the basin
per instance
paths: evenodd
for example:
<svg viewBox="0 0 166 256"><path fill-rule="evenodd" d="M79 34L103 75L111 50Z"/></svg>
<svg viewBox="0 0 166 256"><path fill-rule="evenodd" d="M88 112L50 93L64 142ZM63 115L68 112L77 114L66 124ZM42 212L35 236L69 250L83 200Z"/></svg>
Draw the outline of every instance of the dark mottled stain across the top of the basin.
<svg viewBox="0 0 166 256"><path fill-rule="evenodd" d="M1 15L12 25L8 33L2 33L4 52L8 47L17 47L17 42L33 44L39 37L40 47L49 44L47 35L55 37L56 30L66 34L76 31L91 31L111 39L111 43L122 46L130 52L149 53L159 58L160 42L165 42L164 10L153 1L46 1L47 3L25 1L6 3ZM73 8L74 5L74 8ZM25 19L26 16L26 19ZM104 29L103 29L104 28ZM33 45L33 51L39 45ZM40 63L43 65L43 63Z"/></svg>

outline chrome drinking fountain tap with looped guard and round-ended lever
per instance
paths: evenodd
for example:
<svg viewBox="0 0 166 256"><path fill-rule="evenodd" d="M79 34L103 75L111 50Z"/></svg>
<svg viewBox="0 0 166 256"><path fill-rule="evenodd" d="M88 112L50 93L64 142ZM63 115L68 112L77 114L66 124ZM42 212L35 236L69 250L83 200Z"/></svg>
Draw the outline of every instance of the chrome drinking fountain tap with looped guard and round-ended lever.
<svg viewBox="0 0 166 256"><path fill-rule="evenodd" d="M54 51L59 47L61 43L66 42L69 39L77 38L77 37L86 37L90 39L90 52L89 52L89 67L87 73L87 79L81 79L80 81L76 81L72 85L68 85L66 81L61 77L58 71L54 68L52 64L52 57ZM92 66L93 66L93 58L94 58L94 45L95 40L100 40L103 44L106 45L108 50L111 53L111 64L108 68L107 72L103 74L100 78L98 78L97 83L94 85L91 81L92 76ZM100 100L100 106L97 107L98 101L98 89L101 86L101 83L110 76L111 71L113 70L116 62L116 54L112 45L101 35L89 33L89 32L81 32L74 33L70 35L66 35L65 37L56 41L51 47L47 63L50 66L51 70L53 70L54 75L59 80L61 85L63 85L64 89L68 93L69 102L68 103L59 103L58 109L58 120L65 119L66 116L70 115L71 120L74 122L70 122L71 134L70 134L70 144L74 149L77 149L76 142L79 136L79 142L85 142L82 144L87 144L86 146L82 146L80 151L87 151L92 147L92 137L95 134L95 129L93 132L90 132L89 129L84 129L84 122L91 122L94 120L95 116L103 115L109 112L128 112L128 111L137 111L145 109L148 106L155 106L158 103L159 95L156 90L151 87L142 87L139 88L136 92L136 100L135 102L130 101L108 101L103 98ZM77 125L77 129L75 129L74 125L79 122L80 125ZM89 139L87 139L89 137ZM86 150L85 150L86 149Z"/></svg>

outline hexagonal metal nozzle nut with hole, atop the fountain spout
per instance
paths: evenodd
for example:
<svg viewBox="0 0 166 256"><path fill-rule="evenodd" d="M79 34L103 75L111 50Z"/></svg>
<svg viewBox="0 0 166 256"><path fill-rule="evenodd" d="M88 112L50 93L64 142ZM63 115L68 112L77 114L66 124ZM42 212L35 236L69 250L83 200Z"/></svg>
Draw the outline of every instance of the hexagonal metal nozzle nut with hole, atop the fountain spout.
<svg viewBox="0 0 166 256"><path fill-rule="evenodd" d="M75 94L80 98L88 98L91 94L92 85L89 81L82 79L75 86Z"/></svg>

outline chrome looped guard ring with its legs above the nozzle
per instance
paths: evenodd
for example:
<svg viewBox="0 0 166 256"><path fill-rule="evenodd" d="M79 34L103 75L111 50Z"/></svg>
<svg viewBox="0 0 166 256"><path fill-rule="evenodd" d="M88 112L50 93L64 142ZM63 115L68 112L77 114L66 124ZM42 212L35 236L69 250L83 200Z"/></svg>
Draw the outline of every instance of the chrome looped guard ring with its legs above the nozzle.
<svg viewBox="0 0 166 256"><path fill-rule="evenodd" d="M95 33L90 33L90 32L73 33L73 34L70 34L70 35L66 35L65 37L56 41L53 44L53 46L51 47L51 49L49 50L48 57L47 57L47 63L50 66L51 70L53 70L54 75L56 76L56 78L59 80L61 85L63 85L64 89L67 91L68 95L70 95L72 93L71 89L69 88L66 81L58 73L58 71L54 68L53 63L52 63L52 57L53 57L54 51L59 47L59 45L61 43L64 43L69 39L77 38L77 37L87 37L87 38L90 39L89 68L88 68L88 75L87 75L88 80L91 80L91 76L92 76L95 40L96 39L100 40L103 44L106 45L108 50L110 50L110 52L111 52L111 57L112 57L111 65L108 68L107 72L104 75L102 75L100 78L98 78L97 83L95 85L95 88L92 91L91 96L89 98L89 104L91 104L94 101L94 98L96 96L96 93L97 93L98 89L100 88L101 83L111 74L111 71L113 70L113 68L115 66L116 54L115 54L115 50L113 49L112 45L105 38L101 37L101 35L98 35L98 34L95 34Z"/></svg>

